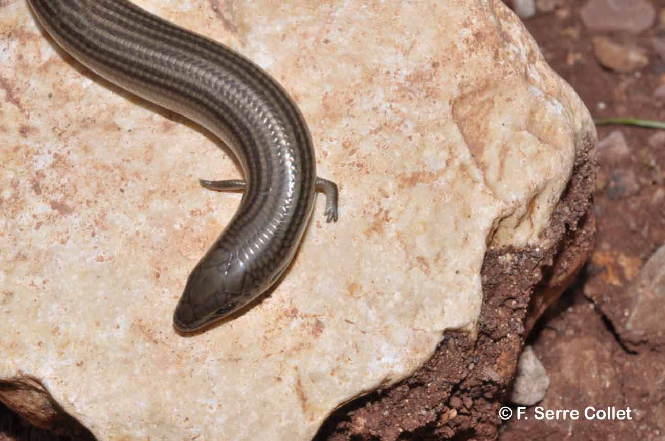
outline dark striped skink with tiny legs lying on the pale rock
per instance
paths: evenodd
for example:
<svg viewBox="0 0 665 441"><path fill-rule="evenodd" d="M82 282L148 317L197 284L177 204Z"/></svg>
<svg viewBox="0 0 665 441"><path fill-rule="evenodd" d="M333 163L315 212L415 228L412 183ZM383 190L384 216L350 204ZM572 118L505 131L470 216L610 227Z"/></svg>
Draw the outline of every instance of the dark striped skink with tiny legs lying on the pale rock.
<svg viewBox="0 0 665 441"><path fill-rule="evenodd" d="M317 178L309 129L269 74L237 52L168 23L126 0L29 0L46 31L110 82L182 114L222 139L245 181L203 181L243 190L235 216L190 274L174 326L193 331L245 306L283 274L326 193L337 219L337 186Z"/></svg>

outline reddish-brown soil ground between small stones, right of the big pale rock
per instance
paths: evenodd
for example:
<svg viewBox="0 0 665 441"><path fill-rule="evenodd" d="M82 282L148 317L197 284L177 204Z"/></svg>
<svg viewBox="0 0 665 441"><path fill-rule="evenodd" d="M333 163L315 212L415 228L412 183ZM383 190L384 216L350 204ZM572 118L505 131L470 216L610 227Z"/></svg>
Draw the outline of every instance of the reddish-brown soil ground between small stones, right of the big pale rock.
<svg viewBox="0 0 665 441"><path fill-rule="evenodd" d="M577 90L592 115L665 120L665 102L654 96L654 90L665 84L665 60L652 45L654 37L665 36L665 1L651 2L661 17L646 31L604 34L646 50L649 66L629 74L598 64L591 43L596 34L587 31L579 18L585 2L559 3L556 13L525 24L549 64ZM665 185L665 141L660 140L665 138L656 130L599 126L599 139L615 130L624 135L630 153L614 155L599 149L593 207L597 244L591 261L577 284L539 321L527 343L533 345L551 379L547 397L537 405L580 412L587 406L630 407L633 419L512 418L501 427L501 441L665 440L663 347L630 347L617 332L630 310L631 280L665 242L664 205L654 203ZM665 319L664 311L654 313ZM527 408L526 414L533 415L533 408Z"/></svg>

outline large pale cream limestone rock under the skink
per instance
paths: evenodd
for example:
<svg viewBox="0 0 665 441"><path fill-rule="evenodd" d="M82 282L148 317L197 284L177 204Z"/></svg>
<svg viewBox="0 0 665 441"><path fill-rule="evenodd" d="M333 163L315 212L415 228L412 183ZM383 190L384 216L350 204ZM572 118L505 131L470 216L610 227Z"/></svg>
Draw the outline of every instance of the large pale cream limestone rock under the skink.
<svg viewBox="0 0 665 441"><path fill-rule="evenodd" d="M319 197L269 296L176 333L188 272L239 203L197 178L238 169L3 2L0 379L39 380L99 440L307 440L444 329L473 332L488 246L549 245L595 128L501 1L136 3L282 82L340 220Z"/></svg>

